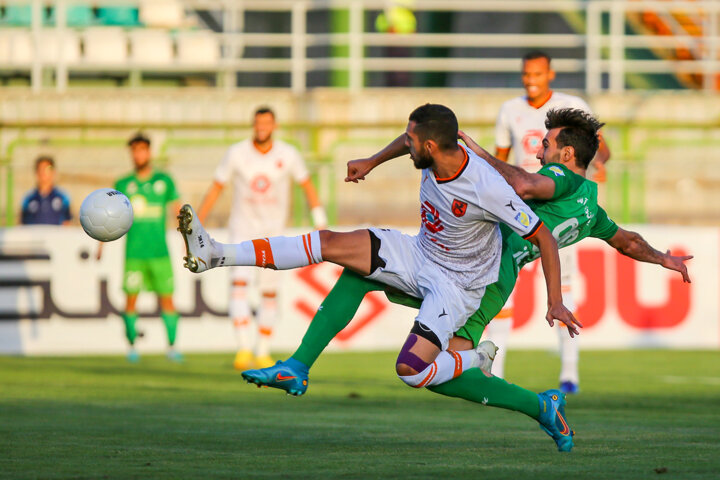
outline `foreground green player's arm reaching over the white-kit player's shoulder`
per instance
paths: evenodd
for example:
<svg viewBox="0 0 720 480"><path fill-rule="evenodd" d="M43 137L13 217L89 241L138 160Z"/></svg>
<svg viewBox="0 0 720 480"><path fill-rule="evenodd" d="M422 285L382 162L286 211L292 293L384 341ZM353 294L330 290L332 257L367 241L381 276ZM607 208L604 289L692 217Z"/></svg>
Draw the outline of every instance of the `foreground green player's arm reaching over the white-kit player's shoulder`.
<svg viewBox="0 0 720 480"><path fill-rule="evenodd" d="M532 198L549 200L552 198L555 193L555 182L550 178L545 175L526 172L520 167L498 160L463 131L458 132L458 137L470 150L477 153L480 158L497 170L523 200Z"/></svg>

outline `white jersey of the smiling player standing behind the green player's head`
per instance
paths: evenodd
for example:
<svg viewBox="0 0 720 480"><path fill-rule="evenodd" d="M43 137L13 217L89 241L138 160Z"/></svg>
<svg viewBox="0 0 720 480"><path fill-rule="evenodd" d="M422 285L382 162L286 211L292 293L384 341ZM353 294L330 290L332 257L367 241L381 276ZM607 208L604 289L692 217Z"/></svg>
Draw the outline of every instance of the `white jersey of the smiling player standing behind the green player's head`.
<svg viewBox="0 0 720 480"><path fill-rule="evenodd" d="M528 172L540 169L537 155L542 139L547 133L545 117L547 112L559 108L579 108L592 113L585 100L573 95L552 92L552 95L540 108L528 103L527 96L516 97L503 103L495 123L495 146L511 148L513 165Z"/></svg>

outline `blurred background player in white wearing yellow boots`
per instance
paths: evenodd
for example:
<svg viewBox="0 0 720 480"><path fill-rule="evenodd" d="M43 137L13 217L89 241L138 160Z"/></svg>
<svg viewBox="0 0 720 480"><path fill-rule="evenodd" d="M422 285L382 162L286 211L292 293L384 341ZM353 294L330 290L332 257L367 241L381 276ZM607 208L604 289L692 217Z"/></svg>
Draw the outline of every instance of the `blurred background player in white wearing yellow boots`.
<svg viewBox="0 0 720 480"><path fill-rule="evenodd" d="M269 108L259 108L253 119L253 137L228 148L215 170L210 186L198 210L205 221L227 182L232 182L233 199L230 212L230 242L259 236L280 235L286 227L290 210L291 180L303 189L310 205L313 225L327 227L325 209L300 152L282 140L272 137L277 124ZM245 370L251 364L263 368L273 364L270 337L277 321L277 280L274 272L234 267L231 272L229 313L235 328L238 352L233 365ZM255 322L248 304L248 287L260 289L261 304ZM253 349L253 329L257 324Z"/></svg>

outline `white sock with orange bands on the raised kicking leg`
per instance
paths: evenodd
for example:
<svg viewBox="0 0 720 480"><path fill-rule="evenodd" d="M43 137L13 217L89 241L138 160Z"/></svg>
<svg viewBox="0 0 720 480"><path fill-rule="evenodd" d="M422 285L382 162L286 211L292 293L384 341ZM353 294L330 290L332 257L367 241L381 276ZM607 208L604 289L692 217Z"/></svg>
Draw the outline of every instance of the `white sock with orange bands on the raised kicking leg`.
<svg viewBox="0 0 720 480"><path fill-rule="evenodd" d="M218 244L224 266L244 265L289 270L322 262L320 232L297 237L270 237L235 244Z"/></svg>

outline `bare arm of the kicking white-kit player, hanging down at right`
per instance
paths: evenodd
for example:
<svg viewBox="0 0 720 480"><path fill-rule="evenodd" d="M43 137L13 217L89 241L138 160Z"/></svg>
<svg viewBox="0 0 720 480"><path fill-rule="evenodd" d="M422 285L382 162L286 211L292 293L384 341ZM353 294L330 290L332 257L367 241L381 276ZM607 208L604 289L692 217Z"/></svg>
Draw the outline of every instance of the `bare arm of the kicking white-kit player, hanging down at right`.
<svg viewBox="0 0 720 480"><path fill-rule="evenodd" d="M558 255L557 242L545 225L542 225L537 233L528 239L540 249L540 261L543 266L545 283L548 291L548 312L545 319L552 327L555 320L567 325L571 337L579 335L577 327L582 328L580 323L562 302L562 290L560 287L560 256Z"/></svg>

